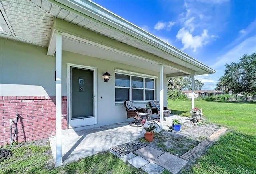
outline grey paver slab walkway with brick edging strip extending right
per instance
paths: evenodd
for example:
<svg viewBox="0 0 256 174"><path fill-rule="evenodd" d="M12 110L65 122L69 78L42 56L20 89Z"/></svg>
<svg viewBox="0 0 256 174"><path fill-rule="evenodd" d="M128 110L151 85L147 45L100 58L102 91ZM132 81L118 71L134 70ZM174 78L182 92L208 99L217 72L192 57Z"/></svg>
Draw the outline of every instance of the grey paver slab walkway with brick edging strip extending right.
<svg viewBox="0 0 256 174"><path fill-rule="evenodd" d="M196 147L183 154L180 158L168 152L159 151L153 147L143 147L137 151L124 156L110 149L109 151L118 156L121 160L129 162L136 168L141 168L148 174L161 174L168 170L172 174L177 174L194 156L204 151L213 141L216 141L227 128L222 127L214 132L210 137L199 143Z"/></svg>

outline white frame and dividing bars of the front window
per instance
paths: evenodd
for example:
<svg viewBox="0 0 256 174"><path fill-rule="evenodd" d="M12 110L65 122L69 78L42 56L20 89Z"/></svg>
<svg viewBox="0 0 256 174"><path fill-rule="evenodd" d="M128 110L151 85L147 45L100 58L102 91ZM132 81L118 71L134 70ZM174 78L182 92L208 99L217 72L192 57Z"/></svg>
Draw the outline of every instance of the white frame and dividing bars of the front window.
<svg viewBox="0 0 256 174"><path fill-rule="evenodd" d="M149 102L151 100L145 100L145 90L153 90L154 91L154 99L156 99L156 78L158 78L157 76L151 76L151 75L147 75L147 74L140 74L137 72L131 72L131 71L126 71L126 70L119 70L119 69L115 69L115 74L123 74L123 75L127 75L129 76L129 80L130 80L130 86L129 87L123 87L123 86L115 86L115 88L123 88L123 89L129 89L129 100L132 100L132 89L139 89L139 90L143 90L143 100L134 100L134 102ZM132 88L132 76L136 76L136 77L141 77L143 78L143 88ZM154 80L154 89L151 88L145 88L145 78L149 78ZM118 103L123 103L124 101L115 101L116 104Z"/></svg>

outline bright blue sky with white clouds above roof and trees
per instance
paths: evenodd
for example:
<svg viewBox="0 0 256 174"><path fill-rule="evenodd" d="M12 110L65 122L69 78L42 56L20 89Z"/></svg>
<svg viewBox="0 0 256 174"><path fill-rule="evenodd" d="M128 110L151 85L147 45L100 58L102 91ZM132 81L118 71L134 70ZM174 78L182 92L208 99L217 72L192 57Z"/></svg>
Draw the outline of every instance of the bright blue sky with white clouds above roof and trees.
<svg viewBox="0 0 256 174"><path fill-rule="evenodd" d="M225 65L256 52L256 0L94 0L216 70L196 76L213 90Z"/></svg>

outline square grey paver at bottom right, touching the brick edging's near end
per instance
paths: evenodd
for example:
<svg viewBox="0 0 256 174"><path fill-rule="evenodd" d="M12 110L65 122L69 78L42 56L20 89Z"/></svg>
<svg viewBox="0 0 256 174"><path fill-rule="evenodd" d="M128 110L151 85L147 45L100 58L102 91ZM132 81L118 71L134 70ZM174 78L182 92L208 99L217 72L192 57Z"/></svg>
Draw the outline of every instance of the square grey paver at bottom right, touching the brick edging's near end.
<svg viewBox="0 0 256 174"><path fill-rule="evenodd" d="M165 168L172 174L177 174L188 163L188 161L174 156L168 152L165 152L156 158L153 162Z"/></svg>

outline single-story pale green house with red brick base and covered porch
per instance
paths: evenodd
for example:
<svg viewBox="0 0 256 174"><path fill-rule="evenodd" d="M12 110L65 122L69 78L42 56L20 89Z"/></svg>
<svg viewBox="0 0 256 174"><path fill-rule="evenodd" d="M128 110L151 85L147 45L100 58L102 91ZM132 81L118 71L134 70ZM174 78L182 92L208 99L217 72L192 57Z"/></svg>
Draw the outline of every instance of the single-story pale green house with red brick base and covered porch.
<svg viewBox="0 0 256 174"><path fill-rule="evenodd" d="M167 78L215 72L91 1L0 0L0 9L0 144L19 113L17 140L56 135L57 165L62 130L127 121L125 100L166 106Z"/></svg>

